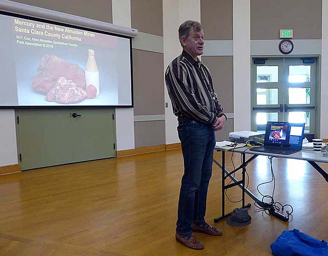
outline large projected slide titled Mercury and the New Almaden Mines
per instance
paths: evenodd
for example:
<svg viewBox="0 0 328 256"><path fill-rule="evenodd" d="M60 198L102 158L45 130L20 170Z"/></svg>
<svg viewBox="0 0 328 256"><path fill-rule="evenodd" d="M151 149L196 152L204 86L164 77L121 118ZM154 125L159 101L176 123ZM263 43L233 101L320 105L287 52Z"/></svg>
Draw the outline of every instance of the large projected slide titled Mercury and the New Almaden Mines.
<svg viewBox="0 0 328 256"><path fill-rule="evenodd" d="M0 14L1 106L132 105L130 38Z"/></svg>

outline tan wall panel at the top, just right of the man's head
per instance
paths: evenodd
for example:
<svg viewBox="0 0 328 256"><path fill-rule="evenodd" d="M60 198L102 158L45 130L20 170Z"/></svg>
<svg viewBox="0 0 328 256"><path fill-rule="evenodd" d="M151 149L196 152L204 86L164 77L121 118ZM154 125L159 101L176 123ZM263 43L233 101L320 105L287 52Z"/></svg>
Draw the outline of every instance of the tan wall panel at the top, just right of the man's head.
<svg viewBox="0 0 328 256"><path fill-rule="evenodd" d="M232 18L232 0L200 1L200 19L206 40L232 40Z"/></svg>

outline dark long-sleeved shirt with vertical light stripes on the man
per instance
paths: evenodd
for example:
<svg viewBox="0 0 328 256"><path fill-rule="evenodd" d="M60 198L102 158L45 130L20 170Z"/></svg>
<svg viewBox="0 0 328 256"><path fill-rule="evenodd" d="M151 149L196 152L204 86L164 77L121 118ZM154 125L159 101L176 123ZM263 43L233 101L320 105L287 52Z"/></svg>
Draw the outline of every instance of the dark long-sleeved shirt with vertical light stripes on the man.
<svg viewBox="0 0 328 256"><path fill-rule="evenodd" d="M188 52L183 50L170 63L165 81L174 115L210 124L222 115L227 119L214 91L210 71Z"/></svg>

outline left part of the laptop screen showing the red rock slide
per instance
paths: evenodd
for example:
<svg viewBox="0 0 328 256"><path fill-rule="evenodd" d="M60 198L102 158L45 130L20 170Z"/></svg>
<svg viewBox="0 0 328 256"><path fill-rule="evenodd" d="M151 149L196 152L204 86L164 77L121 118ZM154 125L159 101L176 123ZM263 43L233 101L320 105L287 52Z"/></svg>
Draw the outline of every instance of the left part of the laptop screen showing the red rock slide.
<svg viewBox="0 0 328 256"><path fill-rule="evenodd" d="M264 144L270 146L289 146L288 122L268 122Z"/></svg>

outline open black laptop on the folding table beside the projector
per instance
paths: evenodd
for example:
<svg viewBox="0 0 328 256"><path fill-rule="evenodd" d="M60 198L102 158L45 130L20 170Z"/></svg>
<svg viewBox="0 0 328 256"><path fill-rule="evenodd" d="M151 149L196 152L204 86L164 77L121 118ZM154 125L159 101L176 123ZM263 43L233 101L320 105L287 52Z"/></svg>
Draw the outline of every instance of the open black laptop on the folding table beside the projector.
<svg viewBox="0 0 328 256"><path fill-rule="evenodd" d="M267 122L264 146L251 151L290 155L302 150L305 123Z"/></svg>

